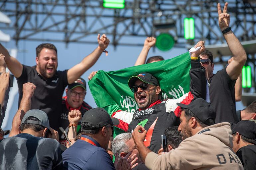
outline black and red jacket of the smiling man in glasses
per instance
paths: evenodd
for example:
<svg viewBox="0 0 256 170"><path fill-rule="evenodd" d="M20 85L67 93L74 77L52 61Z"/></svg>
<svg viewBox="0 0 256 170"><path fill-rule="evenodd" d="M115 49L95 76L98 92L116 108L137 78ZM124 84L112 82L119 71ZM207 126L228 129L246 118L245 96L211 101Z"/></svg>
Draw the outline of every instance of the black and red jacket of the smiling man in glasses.
<svg viewBox="0 0 256 170"><path fill-rule="evenodd" d="M79 108L72 108L71 106L69 106L68 102L66 101L66 96L62 99L62 112L61 115L59 117L60 120L60 124L59 124L59 128L58 128L58 132L59 132L59 142L61 144L66 145L66 140L64 138L63 132L66 131L66 133L68 132L68 126L69 126L69 121L68 121L68 112L70 112L71 110L74 109L79 109L82 116L84 115L84 113L88 110L90 110L92 107L90 105L88 105L86 102L83 102L82 105ZM81 122L78 123L77 126L77 134L80 133L80 125Z"/></svg>

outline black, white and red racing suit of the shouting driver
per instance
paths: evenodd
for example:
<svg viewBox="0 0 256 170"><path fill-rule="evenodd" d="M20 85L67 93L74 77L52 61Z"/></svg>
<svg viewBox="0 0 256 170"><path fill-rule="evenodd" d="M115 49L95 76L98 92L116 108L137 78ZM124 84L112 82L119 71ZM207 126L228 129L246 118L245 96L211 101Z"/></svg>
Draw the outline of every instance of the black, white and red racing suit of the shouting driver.
<svg viewBox="0 0 256 170"><path fill-rule="evenodd" d="M134 113L122 110L114 112L112 117L119 119L119 125L116 127L125 132L133 132L138 125L143 126L147 130L144 145L157 153L161 148L161 135L164 135L168 127L180 124L181 108L176 103L189 104L199 97L206 99L205 70L199 59L191 60L190 78L190 92L178 99L167 99L162 102L158 100L148 108L137 109Z"/></svg>

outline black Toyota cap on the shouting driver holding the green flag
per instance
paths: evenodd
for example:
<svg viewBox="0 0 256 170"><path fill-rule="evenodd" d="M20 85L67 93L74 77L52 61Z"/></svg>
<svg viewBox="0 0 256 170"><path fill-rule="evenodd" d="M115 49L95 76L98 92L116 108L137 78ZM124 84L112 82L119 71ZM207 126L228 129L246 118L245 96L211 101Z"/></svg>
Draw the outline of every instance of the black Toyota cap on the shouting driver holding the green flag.
<svg viewBox="0 0 256 170"><path fill-rule="evenodd" d="M152 76L152 74L146 73L146 72L142 72L142 73L138 74L138 76L132 76L128 80L128 86L130 88L132 88L132 86L134 86L134 83L138 79L141 80L142 82L159 86L158 80L154 76Z"/></svg>

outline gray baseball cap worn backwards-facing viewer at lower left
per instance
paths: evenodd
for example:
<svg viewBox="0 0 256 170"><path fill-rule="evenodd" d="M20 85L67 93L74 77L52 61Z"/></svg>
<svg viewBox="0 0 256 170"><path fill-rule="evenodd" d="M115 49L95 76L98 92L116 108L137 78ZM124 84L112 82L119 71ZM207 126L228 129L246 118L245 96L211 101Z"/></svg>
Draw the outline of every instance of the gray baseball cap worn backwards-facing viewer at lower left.
<svg viewBox="0 0 256 170"><path fill-rule="evenodd" d="M30 116L38 118L39 121L27 120L27 118L30 117ZM42 126L48 128L48 129L50 129L50 124L49 124L47 114L44 111L39 110L39 109L33 109L33 110L27 111L27 113L25 114L25 116L23 117L23 119L21 121L21 124L23 124L23 123L42 125Z"/></svg>

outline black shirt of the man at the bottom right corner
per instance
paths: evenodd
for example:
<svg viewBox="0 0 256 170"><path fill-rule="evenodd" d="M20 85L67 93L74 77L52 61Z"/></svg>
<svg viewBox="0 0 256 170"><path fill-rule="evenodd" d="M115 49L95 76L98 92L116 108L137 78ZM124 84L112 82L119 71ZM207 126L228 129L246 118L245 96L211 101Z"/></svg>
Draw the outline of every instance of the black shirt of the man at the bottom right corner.
<svg viewBox="0 0 256 170"><path fill-rule="evenodd" d="M247 146L241 147L236 154L242 161L244 170L256 169L256 145L248 144Z"/></svg>

